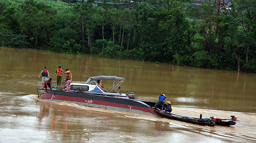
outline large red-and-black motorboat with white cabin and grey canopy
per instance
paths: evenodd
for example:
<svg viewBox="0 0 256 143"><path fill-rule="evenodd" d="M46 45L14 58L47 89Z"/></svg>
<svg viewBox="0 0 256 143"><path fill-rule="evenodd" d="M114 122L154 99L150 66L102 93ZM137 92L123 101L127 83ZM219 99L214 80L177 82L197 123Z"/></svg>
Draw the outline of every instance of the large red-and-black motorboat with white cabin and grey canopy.
<svg viewBox="0 0 256 143"><path fill-rule="evenodd" d="M113 85L109 90L99 86L97 80L112 80ZM117 81L115 83L115 81ZM38 97L48 101L67 102L88 107L99 107L122 112L134 112L146 115L158 115L152 109L154 102L135 100L134 93L120 93L120 84L124 78L116 76L94 76L86 82L74 81L70 84L70 92L64 92L64 88L55 87L52 91L38 87L42 94ZM160 105L159 105L160 106ZM157 106L159 108L159 106Z"/></svg>

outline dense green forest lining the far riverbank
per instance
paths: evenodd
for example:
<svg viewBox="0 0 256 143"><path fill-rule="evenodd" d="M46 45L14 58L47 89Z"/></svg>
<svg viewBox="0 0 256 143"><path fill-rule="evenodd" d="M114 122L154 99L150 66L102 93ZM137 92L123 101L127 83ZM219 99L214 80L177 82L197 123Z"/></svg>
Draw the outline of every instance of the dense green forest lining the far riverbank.
<svg viewBox="0 0 256 143"><path fill-rule="evenodd" d="M0 47L256 73L255 0L232 2L1 0Z"/></svg>

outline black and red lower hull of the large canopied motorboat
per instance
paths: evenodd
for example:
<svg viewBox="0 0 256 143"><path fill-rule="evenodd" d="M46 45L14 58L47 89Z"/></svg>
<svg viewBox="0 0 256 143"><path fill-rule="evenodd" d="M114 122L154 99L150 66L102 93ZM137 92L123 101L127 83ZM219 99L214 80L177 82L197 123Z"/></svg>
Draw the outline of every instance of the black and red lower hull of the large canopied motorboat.
<svg viewBox="0 0 256 143"><path fill-rule="evenodd" d="M41 99L56 102L75 103L88 107L105 108L122 112L134 112L146 115L158 115L151 105L140 100L117 98L108 95L94 95L86 93L67 93L60 91L47 92L39 96ZM151 103L151 102L150 102ZM151 103L155 104L155 103Z"/></svg>

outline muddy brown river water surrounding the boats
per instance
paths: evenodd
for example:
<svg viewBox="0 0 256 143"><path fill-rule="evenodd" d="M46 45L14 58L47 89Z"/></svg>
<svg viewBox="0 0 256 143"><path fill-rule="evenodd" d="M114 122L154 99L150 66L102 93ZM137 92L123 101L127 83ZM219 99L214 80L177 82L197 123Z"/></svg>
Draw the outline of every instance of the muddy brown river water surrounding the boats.
<svg viewBox="0 0 256 143"><path fill-rule="evenodd" d="M119 76L122 93L156 102L171 101L172 113L198 118L236 115L234 126L199 126L154 115L83 107L37 98L44 66L56 81L58 66L73 81L90 76ZM256 75L180 67L91 55L66 55L0 48L1 143L255 143ZM108 84L108 83L102 83Z"/></svg>

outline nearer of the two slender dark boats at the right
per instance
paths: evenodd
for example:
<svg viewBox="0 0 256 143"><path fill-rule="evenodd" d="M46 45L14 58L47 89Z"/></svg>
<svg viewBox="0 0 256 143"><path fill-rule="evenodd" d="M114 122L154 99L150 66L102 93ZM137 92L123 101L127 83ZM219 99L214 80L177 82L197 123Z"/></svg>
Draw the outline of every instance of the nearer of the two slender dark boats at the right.
<svg viewBox="0 0 256 143"><path fill-rule="evenodd" d="M207 119L207 118L200 119L200 118L192 118L192 117L175 115L172 113L163 112L161 110L154 110L154 112L156 112L158 115L160 115L163 118L173 119L173 120L182 121L182 122L186 122L186 123L193 123L193 124L198 124L201 126L215 126L216 125L216 123L214 122L215 118L213 118L213 117L211 117L209 119Z"/></svg>

